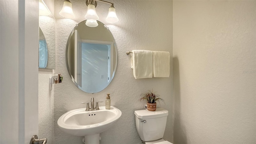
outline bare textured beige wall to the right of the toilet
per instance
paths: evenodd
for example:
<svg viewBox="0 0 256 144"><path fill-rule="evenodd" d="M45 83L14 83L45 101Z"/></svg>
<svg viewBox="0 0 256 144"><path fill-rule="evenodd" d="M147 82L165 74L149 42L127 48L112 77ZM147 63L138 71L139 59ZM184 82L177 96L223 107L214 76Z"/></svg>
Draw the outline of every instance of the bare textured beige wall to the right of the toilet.
<svg viewBox="0 0 256 144"><path fill-rule="evenodd" d="M174 1L174 144L255 144L256 1Z"/></svg>

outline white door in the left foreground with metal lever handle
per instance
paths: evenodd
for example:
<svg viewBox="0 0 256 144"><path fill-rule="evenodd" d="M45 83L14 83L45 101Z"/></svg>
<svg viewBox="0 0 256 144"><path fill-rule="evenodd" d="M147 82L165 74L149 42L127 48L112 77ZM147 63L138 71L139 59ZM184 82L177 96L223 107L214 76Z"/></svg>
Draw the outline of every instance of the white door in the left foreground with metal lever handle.
<svg viewBox="0 0 256 144"><path fill-rule="evenodd" d="M38 135L38 0L0 0L0 143Z"/></svg>

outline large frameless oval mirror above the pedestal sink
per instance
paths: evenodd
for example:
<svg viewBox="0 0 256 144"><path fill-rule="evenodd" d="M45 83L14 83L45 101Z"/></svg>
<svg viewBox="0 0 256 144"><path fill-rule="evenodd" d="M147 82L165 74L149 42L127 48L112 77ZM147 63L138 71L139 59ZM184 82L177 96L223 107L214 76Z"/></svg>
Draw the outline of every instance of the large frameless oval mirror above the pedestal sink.
<svg viewBox="0 0 256 144"><path fill-rule="evenodd" d="M68 37L66 66L80 90L96 93L104 90L114 78L117 48L106 25L97 21L97 27L88 27L85 22L77 24Z"/></svg>

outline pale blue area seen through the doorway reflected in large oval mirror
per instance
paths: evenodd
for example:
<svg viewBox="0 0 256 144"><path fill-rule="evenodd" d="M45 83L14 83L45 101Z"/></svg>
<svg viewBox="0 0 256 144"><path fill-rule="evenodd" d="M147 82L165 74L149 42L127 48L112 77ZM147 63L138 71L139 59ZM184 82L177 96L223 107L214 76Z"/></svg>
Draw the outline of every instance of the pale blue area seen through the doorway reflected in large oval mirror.
<svg viewBox="0 0 256 144"><path fill-rule="evenodd" d="M82 90L98 92L108 84L110 45L82 43Z"/></svg>

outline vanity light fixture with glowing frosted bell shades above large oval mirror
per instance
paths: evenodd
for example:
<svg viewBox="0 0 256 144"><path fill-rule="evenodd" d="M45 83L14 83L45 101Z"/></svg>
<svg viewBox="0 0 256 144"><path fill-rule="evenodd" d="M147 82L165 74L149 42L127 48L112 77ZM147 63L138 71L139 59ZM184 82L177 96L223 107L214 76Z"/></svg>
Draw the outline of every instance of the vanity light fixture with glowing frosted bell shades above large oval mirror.
<svg viewBox="0 0 256 144"><path fill-rule="evenodd" d="M114 8L113 3L107 2L107 1L104 1L104 0L86 0L86 5L88 6L88 8L87 8L87 12L86 12L84 18L86 19L86 23L88 24L88 25L86 24L87 26L90 26L90 27L96 27L95 25L98 26L98 23L97 23L96 20L98 20L99 17L98 17L98 14L96 13L96 9L95 9L96 6L97 6L96 1L105 2L105 3L111 5L110 8L108 9L108 16L106 18L107 22L114 23L114 22L119 21L119 19L116 16L116 9ZM68 9L69 12L68 12L68 10L64 10L64 9ZM64 1L63 8L60 11L60 15L66 17L66 18L75 18L75 15L74 15L73 10L72 10L72 4L69 0Z"/></svg>

